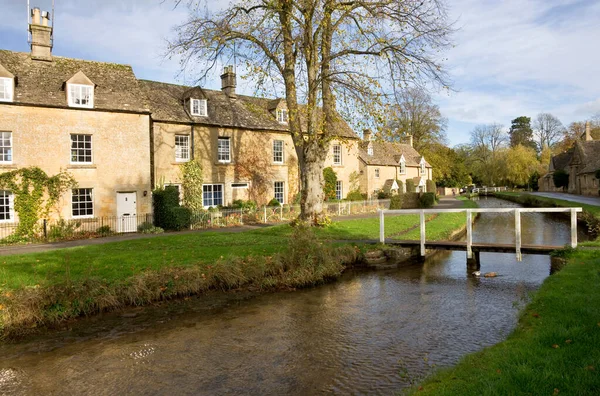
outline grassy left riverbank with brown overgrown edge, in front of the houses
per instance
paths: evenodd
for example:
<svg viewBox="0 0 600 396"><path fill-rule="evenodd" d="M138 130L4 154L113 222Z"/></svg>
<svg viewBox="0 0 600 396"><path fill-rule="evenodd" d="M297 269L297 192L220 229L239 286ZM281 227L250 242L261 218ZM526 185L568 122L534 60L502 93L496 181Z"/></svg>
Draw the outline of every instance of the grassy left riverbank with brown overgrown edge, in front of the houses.
<svg viewBox="0 0 600 396"><path fill-rule="evenodd" d="M459 217L431 216L428 239L463 226L464 216ZM386 218L386 235L406 239L418 221L417 215ZM207 290L269 291L323 283L361 259L359 248L327 240L378 235L379 220L371 218L334 222L314 235L280 225L6 256L0 265L0 334L18 336L82 315Z"/></svg>

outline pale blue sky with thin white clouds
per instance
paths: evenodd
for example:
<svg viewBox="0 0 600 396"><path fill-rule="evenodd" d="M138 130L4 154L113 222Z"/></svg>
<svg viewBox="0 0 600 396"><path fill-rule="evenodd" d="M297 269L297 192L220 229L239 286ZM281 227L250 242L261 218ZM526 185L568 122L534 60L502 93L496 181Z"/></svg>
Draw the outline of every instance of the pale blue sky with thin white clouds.
<svg viewBox="0 0 600 396"><path fill-rule="evenodd" d="M139 78L190 83L166 40L187 11L171 0L56 0L53 53L126 63ZM0 48L28 51L26 0L0 0ZM209 1L209 8L227 1ZM563 124L600 112L600 1L448 0L456 21L445 53L453 91L434 93L448 118L451 145L466 143L482 123L505 127L521 115L556 115ZM51 0L31 0L50 10ZM239 81L238 89L252 87ZM219 88L218 73L206 82Z"/></svg>

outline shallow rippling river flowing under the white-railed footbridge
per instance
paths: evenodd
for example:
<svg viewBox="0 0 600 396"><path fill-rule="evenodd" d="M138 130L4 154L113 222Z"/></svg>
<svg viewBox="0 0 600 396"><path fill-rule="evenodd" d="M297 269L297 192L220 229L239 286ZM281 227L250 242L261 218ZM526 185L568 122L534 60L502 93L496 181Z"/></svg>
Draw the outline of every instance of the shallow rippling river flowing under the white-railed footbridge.
<svg viewBox="0 0 600 396"><path fill-rule="evenodd" d="M514 207L482 199L481 207ZM568 222L522 215L523 243L562 245ZM475 242L514 242L482 215ZM393 394L496 344L550 272L547 256L465 252L288 293L214 294L128 309L0 345L0 394ZM250 298L251 297L251 298Z"/></svg>

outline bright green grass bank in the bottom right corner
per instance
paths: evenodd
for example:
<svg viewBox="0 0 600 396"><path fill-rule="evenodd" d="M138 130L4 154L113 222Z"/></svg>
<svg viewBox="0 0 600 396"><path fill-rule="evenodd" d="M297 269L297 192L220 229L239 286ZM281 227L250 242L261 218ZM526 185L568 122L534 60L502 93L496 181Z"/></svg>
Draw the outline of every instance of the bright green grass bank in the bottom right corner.
<svg viewBox="0 0 600 396"><path fill-rule="evenodd" d="M411 393L600 394L600 251L572 253L506 341L465 357Z"/></svg>

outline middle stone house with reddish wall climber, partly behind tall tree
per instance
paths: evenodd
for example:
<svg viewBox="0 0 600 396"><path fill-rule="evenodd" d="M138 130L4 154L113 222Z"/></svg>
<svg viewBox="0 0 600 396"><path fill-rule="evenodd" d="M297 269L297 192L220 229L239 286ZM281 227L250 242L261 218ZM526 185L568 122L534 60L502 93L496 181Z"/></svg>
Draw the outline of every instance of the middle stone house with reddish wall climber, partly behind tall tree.
<svg viewBox="0 0 600 396"><path fill-rule="evenodd" d="M180 185L181 164L202 163L203 203L229 205L234 200L272 198L288 204L299 190L298 158L282 99L235 92L231 67L221 75L221 91L141 81L152 111L154 178ZM344 198L350 174L358 172L358 137L343 121L336 125L325 166L338 177L338 197ZM256 184L263 184L259 188ZM257 195L258 194L258 195Z"/></svg>

